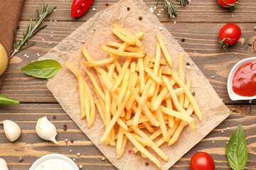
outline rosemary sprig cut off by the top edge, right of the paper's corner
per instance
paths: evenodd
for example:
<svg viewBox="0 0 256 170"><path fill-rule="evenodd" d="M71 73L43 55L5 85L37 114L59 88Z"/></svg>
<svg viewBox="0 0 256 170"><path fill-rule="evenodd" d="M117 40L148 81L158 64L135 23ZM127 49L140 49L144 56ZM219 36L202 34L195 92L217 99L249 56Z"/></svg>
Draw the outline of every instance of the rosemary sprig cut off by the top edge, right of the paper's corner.
<svg viewBox="0 0 256 170"><path fill-rule="evenodd" d="M159 0L157 0L156 6L159 4ZM173 2L171 0L164 0L164 10L167 11L168 15L171 18L174 18L177 16L176 12L178 11L179 8L177 8L175 5L180 5L180 6L186 6L186 4L189 4L188 0L178 0L178 2Z"/></svg>

